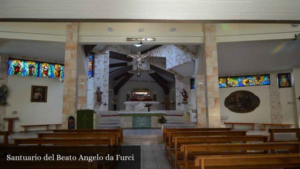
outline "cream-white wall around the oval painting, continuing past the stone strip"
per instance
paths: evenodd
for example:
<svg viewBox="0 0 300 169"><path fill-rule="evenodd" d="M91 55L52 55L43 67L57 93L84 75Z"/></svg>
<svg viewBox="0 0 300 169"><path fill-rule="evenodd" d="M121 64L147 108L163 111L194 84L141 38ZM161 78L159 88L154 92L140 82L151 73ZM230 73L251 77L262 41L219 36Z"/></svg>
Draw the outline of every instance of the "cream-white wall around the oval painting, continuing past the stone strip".
<svg viewBox="0 0 300 169"><path fill-rule="evenodd" d="M224 105L224 101L229 94L234 91L245 90L255 94L260 99L260 105L249 113L236 113L230 111ZM271 123L271 108L270 108L270 92L269 86L248 86L248 87L232 87L220 88L220 110L221 116L228 116L226 122L241 122L241 123ZM297 124L295 119L295 105L287 104L294 101L293 88L280 88L280 103L282 106L283 124ZM230 125L227 125L230 127ZM250 128L246 125L236 125L236 128Z"/></svg>

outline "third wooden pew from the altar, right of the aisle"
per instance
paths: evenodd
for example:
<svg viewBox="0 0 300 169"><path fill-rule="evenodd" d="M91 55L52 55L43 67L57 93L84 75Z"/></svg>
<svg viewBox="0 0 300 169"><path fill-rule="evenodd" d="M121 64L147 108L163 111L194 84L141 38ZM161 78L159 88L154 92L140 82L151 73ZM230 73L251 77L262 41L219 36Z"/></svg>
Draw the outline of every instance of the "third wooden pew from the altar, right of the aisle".
<svg viewBox="0 0 300 169"><path fill-rule="evenodd" d="M231 143L231 142L249 142L261 141L268 142L269 136L191 136L191 137L173 137L174 150L171 150L172 164L177 164L178 158L183 157L183 153L178 152L178 147L182 144L194 143Z"/></svg>

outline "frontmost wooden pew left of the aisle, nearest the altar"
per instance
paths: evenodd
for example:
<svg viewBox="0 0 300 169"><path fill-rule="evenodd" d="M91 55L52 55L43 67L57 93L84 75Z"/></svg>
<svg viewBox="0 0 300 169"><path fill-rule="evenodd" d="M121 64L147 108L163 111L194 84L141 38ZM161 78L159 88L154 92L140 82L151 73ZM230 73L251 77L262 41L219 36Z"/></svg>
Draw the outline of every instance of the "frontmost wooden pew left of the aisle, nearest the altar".
<svg viewBox="0 0 300 169"><path fill-rule="evenodd" d="M111 133L120 133L119 141L120 144L123 143L123 129L54 129L53 133L103 133L103 132L111 132Z"/></svg>

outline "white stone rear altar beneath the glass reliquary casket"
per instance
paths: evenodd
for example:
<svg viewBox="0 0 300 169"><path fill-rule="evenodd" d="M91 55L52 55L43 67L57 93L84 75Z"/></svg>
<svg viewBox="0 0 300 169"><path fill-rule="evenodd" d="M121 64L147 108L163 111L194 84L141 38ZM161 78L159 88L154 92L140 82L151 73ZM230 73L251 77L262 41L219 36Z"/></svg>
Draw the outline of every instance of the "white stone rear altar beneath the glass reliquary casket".
<svg viewBox="0 0 300 169"><path fill-rule="evenodd" d="M129 112L148 112L148 107L145 107L147 103L152 104L150 111L158 110L157 106L159 102L157 101L127 101L124 102L126 105L125 109Z"/></svg>

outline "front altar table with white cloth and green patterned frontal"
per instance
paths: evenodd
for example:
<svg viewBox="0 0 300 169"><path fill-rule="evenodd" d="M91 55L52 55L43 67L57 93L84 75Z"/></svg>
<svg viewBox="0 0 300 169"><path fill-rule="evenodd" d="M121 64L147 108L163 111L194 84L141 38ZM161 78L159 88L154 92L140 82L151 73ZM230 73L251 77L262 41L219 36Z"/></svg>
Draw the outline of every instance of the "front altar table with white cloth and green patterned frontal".
<svg viewBox="0 0 300 169"><path fill-rule="evenodd" d="M161 128L157 119L166 112L118 112L118 115L121 128Z"/></svg>

